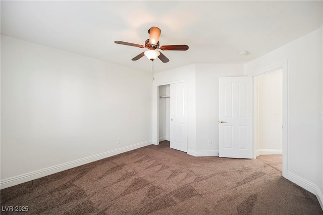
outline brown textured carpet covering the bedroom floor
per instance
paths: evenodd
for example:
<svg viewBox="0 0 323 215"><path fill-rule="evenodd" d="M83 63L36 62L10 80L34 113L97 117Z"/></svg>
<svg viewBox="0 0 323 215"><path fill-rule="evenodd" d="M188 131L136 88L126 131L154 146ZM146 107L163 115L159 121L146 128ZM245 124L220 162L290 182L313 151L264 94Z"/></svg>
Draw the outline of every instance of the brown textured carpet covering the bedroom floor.
<svg viewBox="0 0 323 215"><path fill-rule="evenodd" d="M194 157L168 141L1 191L2 214L323 214L284 179L281 155Z"/></svg>

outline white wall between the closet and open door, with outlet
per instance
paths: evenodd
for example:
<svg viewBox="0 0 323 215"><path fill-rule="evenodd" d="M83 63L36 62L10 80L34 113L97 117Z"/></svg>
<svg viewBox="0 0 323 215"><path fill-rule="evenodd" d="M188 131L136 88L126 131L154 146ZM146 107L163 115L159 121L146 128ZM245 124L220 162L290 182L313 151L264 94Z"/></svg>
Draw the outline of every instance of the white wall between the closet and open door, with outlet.
<svg viewBox="0 0 323 215"><path fill-rule="evenodd" d="M242 64L196 64L196 155L219 153L219 77L243 75Z"/></svg>

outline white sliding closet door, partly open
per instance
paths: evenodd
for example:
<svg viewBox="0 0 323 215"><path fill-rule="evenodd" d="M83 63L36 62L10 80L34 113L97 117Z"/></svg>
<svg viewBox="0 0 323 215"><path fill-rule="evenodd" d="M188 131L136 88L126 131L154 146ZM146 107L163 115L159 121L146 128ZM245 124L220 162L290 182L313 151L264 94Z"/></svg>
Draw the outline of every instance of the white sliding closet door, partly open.
<svg viewBox="0 0 323 215"><path fill-rule="evenodd" d="M171 148L187 152L187 82L171 84Z"/></svg>

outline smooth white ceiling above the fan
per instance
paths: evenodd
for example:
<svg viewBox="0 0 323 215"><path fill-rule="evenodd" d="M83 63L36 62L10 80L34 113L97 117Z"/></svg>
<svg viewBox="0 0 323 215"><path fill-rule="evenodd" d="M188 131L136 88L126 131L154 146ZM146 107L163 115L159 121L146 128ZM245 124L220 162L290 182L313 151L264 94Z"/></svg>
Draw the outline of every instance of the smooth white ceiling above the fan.
<svg viewBox="0 0 323 215"><path fill-rule="evenodd" d="M155 71L193 63L246 63L322 23L322 1L1 1L1 33L79 55L150 71L143 49L151 26L160 45L187 44L187 51L162 51L168 63ZM247 56L239 51L248 50Z"/></svg>

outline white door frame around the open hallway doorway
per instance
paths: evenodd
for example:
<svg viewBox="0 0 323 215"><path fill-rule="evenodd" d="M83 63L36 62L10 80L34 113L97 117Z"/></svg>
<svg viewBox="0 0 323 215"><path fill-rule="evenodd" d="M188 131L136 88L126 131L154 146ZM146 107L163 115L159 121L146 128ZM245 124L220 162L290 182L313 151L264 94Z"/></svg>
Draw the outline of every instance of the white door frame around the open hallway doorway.
<svg viewBox="0 0 323 215"><path fill-rule="evenodd" d="M253 76L253 158L257 154L257 78L256 76L282 69L283 74L283 177L287 178L288 172L288 60L273 67L257 71Z"/></svg>

